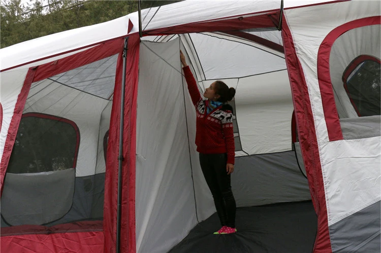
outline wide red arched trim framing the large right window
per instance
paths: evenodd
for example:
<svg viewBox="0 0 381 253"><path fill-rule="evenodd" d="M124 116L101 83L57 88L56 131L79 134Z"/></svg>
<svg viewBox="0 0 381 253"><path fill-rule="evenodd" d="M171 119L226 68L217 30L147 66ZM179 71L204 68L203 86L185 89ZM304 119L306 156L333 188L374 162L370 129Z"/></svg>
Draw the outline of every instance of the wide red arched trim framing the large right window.
<svg viewBox="0 0 381 253"><path fill-rule="evenodd" d="M335 97L331 83L329 57L331 48L337 38L344 32L367 25L380 24L380 16L354 20L333 29L323 40L317 53L317 78L319 79L322 95L324 118L326 119L328 137L330 141L343 139L339 116L336 109Z"/></svg>

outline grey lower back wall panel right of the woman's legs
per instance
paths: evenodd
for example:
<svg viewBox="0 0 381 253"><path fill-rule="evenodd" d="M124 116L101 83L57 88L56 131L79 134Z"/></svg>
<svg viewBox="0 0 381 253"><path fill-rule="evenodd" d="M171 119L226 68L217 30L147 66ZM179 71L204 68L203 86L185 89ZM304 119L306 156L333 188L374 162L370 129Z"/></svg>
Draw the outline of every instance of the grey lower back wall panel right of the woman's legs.
<svg viewBox="0 0 381 253"><path fill-rule="evenodd" d="M232 189L237 206L310 200L294 151L236 157Z"/></svg>

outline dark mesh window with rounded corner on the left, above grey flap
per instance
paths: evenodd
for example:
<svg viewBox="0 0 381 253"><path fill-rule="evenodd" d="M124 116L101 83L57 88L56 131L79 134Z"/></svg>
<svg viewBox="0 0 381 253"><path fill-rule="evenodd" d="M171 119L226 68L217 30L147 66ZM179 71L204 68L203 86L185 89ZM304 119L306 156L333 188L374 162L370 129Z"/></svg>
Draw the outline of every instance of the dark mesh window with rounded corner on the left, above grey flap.
<svg viewBox="0 0 381 253"><path fill-rule="evenodd" d="M37 173L74 168L79 130L74 122L43 114L20 121L8 173Z"/></svg>

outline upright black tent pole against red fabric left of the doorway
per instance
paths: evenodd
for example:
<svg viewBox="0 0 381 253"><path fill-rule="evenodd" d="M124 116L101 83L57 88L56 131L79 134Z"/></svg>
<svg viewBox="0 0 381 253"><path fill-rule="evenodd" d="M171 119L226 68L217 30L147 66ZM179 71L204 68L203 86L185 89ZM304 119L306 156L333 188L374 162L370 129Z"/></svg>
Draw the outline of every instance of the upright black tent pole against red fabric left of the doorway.
<svg viewBox="0 0 381 253"><path fill-rule="evenodd" d="M124 90L125 90L125 67L127 62L127 42L128 38L124 39L123 49L123 72L122 72L122 89L120 99L120 128L119 128L119 156L118 156L118 203L116 214L116 253L120 252L120 212L122 200L122 165L123 165L123 121L124 121Z"/></svg>

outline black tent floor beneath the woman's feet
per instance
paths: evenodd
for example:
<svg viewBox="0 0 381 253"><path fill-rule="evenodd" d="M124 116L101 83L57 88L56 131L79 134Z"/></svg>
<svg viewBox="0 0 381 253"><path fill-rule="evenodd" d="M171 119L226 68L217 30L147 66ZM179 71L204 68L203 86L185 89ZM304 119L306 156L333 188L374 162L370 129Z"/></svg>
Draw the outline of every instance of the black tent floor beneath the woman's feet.
<svg viewBox="0 0 381 253"><path fill-rule="evenodd" d="M312 252L317 218L311 201L239 207L237 233L213 235L217 213L199 223L170 252Z"/></svg>

